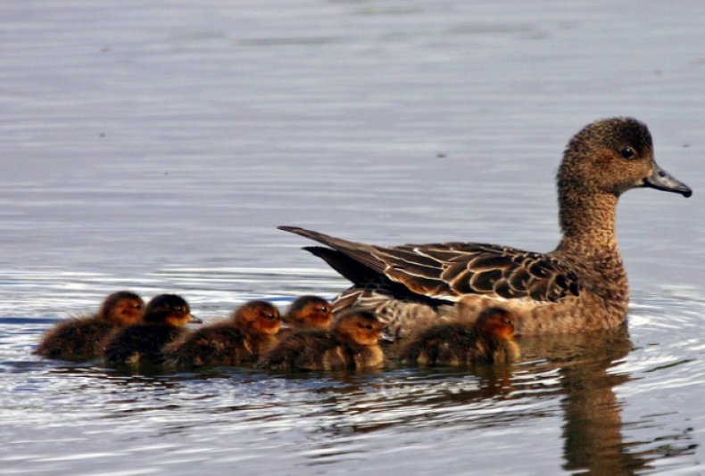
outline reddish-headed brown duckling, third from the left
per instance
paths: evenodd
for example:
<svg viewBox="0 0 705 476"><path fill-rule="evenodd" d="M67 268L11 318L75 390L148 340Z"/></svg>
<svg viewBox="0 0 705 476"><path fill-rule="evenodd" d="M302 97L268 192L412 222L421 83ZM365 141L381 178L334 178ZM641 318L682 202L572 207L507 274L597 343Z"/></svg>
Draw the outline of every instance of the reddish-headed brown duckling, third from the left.
<svg viewBox="0 0 705 476"><path fill-rule="evenodd" d="M256 362L277 343L281 327L277 308L263 300L245 303L232 319L203 327L166 350L170 362L180 367L239 365Z"/></svg>

